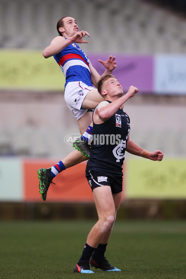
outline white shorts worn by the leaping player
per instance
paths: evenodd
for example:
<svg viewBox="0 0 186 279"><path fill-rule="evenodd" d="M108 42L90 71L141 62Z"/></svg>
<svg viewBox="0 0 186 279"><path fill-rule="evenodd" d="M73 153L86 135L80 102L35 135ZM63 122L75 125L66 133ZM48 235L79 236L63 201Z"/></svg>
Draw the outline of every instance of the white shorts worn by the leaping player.
<svg viewBox="0 0 186 279"><path fill-rule="evenodd" d="M64 91L64 99L77 120L87 112L88 109L82 108L82 102L88 92L93 88L93 86L88 86L81 81L67 83Z"/></svg>

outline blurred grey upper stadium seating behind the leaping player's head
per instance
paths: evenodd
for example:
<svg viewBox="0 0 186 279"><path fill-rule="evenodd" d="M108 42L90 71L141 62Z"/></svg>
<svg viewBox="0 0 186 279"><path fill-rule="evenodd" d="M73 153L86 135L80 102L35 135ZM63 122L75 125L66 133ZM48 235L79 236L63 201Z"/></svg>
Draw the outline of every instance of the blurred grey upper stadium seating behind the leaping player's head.
<svg viewBox="0 0 186 279"><path fill-rule="evenodd" d="M32 0L0 2L0 47L43 49L64 15L91 37L85 50L185 53L186 19L142 0Z"/></svg>

